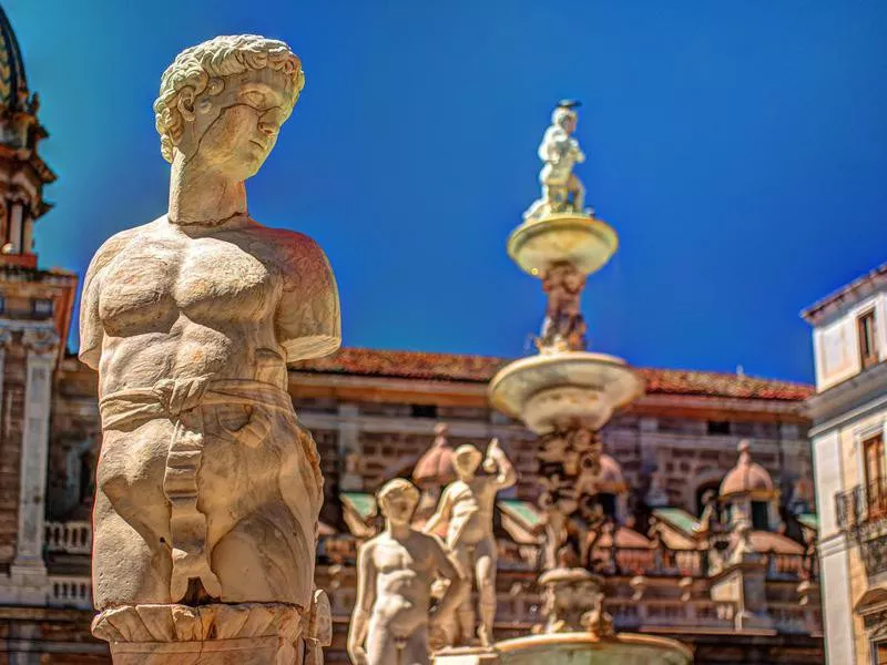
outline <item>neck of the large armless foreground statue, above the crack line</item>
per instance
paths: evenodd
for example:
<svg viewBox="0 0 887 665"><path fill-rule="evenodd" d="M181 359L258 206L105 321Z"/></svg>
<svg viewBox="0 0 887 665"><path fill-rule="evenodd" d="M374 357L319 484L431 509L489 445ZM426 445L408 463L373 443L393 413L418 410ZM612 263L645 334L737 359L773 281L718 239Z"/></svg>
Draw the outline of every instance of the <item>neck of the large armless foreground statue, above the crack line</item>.
<svg viewBox="0 0 887 665"><path fill-rule="evenodd" d="M169 219L179 225L216 226L246 215L246 187L216 171L173 160Z"/></svg>

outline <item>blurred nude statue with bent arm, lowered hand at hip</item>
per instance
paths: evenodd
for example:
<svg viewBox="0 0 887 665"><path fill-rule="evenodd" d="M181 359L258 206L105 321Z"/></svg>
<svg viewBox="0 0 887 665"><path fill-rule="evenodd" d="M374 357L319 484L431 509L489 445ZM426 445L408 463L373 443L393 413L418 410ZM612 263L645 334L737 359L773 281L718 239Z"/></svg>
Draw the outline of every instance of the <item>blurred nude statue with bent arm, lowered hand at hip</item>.
<svg viewBox="0 0 887 665"><path fill-rule="evenodd" d="M437 538L410 526L419 502L412 483L395 479L379 490L377 501L386 528L357 555L348 654L354 665L427 665L429 634L450 621L470 585ZM438 574L450 585L429 620L431 584Z"/></svg>

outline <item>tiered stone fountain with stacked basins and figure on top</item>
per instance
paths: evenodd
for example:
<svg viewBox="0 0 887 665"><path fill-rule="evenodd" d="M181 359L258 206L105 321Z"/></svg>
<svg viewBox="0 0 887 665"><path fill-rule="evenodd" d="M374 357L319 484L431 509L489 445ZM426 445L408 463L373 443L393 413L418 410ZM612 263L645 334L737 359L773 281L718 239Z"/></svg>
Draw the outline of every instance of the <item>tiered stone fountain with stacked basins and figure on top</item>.
<svg viewBox="0 0 887 665"><path fill-rule="evenodd" d="M572 173L584 160L571 136L577 105L562 102L554 110L539 149L543 196L508 239L509 256L542 280L549 299L539 354L503 367L489 386L493 407L540 436L547 545L539 584L547 624L540 634L496 644L496 651L506 665L686 664L692 653L679 642L615 633L601 580L589 571L594 539L610 519L595 482L599 431L643 393L643 385L621 358L585 348L581 293L619 239L582 205L584 190Z"/></svg>

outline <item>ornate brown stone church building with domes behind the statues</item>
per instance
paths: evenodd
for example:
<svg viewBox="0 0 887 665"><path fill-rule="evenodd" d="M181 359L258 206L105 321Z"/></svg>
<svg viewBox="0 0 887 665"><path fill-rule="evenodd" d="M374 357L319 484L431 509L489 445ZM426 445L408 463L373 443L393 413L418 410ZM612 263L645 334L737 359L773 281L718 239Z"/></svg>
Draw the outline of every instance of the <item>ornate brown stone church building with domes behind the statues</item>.
<svg viewBox="0 0 887 665"><path fill-rule="evenodd" d="M16 35L0 9L0 664L109 663L90 635L91 508L101 446L96 376L64 348L78 279L41 269L34 224L55 175ZM411 478L427 519L461 443L497 437L518 483L499 495L497 638L541 622L538 442L497 413L506 359L344 349L293 367L289 393L325 477L317 585L332 602L327 663L347 663L355 554L377 533L375 491ZM808 386L641 369L646 395L603 431L592 566L619 630L690 644L697 663L823 662ZM730 514L751 516L733 533ZM725 557L763 574L725 579ZM755 569L756 571L758 569Z"/></svg>

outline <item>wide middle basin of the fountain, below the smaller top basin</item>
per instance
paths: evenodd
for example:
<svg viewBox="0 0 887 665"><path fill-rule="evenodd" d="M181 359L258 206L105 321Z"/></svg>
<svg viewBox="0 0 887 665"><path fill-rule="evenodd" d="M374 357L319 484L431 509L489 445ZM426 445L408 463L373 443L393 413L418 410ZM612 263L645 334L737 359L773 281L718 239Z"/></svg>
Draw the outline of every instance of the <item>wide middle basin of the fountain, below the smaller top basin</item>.
<svg viewBox="0 0 887 665"><path fill-rule="evenodd" d="M507 365L488 392L496 409L544 434L574 426L599 429L614 409L643 395L643 382L615 356L564 351Z"/></svg>

